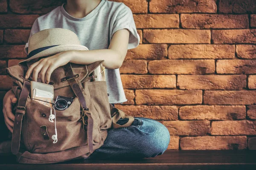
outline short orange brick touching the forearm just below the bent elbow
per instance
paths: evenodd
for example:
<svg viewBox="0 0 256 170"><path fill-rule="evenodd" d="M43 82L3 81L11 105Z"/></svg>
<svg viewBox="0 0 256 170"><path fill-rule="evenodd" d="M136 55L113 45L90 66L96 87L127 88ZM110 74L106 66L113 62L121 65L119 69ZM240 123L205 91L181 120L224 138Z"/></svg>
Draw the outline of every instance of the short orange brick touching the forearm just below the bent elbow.
<svg viewBox="0 0 256 170"><path fill-rule="evenodd" d="M121 74L146 74L147 61L139 59L125 59L120 67Z"/></svg>

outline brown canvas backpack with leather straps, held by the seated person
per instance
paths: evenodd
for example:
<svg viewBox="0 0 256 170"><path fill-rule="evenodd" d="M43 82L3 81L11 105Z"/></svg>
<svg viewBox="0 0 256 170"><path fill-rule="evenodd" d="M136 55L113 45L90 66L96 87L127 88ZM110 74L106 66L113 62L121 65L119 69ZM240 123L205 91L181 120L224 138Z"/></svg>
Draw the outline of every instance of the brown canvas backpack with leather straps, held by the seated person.
<svg viewBox="0 0 256 170"><path fill-rule="evenodd" d="M109 128L128 127L134 117L114 108L109 103L106 81L90 81L93 71L104 60L90 65L68 63L53 71L50 83L57 96L76 96L65 110L56 110L55 123L58 142L53 143L54 123L49 122L50 108L31 99L30 81L25 79L29 66L38 61L20 62L6 68L13 81L12 91L18 102L14 109L15 122L11 150L17 162L23 164L49 164L71 159L86 158L101 147L108 135ZM40 82L40 79L38 79ZM119 125L119 119L128 122ZM0 150L8 146L0 144Z"/></svg>

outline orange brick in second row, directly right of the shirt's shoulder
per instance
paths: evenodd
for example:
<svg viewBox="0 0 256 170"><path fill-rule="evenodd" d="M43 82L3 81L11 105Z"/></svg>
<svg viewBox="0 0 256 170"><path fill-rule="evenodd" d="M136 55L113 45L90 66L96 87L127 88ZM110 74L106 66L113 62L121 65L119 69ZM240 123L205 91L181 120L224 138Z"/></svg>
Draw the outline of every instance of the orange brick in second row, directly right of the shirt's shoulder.
<svg viewBox="0 0 256 170"><path fill-rule="evenodd" d="M179 28L179 14L134 14L136 28Z"/></svg>

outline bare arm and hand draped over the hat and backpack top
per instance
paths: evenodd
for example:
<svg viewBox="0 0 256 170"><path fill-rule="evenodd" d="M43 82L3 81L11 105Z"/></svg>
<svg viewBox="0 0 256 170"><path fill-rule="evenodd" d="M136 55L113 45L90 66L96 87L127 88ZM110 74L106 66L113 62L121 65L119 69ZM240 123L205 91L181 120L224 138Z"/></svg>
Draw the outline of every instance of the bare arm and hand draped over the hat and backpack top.
<svg viewBox="0 0 256 170"><path fill-rule="evenodd" d="M105 60L103 66L108 69L120 68L128 49L129 31L122 29L113 34L108 49L88 50L88 51L64 51L47 57L32 64L27 73L26 79L33 73L33 81L37 81L40 73L41 82L50 81L52 72L68 62L76 64L91 64L99 60Z"/></svg>

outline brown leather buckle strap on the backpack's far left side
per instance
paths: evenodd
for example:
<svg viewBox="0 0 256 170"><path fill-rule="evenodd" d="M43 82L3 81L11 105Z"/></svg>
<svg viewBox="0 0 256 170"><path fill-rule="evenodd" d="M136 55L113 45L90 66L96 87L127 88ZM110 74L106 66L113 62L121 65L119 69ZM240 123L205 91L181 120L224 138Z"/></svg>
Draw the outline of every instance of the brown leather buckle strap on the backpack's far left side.
<svg viewBox="0 0 256 170"><path fill-rule="evenodd" d="M26 113L26 101L29 96L30 82L24 80L23 88L20 92L19 102L15 111L15 119L12 133L12 153L17 154L20 149L20 133L23 116Z"/></svg>

